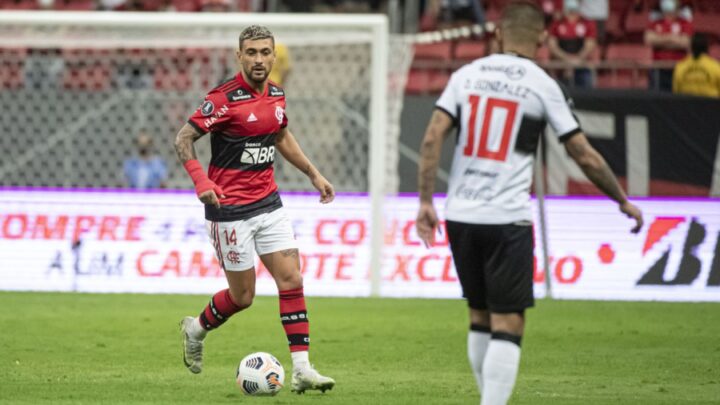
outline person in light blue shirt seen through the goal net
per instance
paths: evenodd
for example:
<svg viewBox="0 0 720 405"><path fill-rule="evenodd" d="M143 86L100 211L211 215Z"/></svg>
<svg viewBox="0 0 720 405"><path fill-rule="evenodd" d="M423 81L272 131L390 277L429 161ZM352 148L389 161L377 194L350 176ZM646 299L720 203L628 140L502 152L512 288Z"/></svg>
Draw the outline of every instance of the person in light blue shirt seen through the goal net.
<svg viewBox="0 0 720 405"><path fill-rule="evenodd" d="M141 132L135 139L135 146L137 156L123 163L126 185L140 190L165 188L167 168L165 161L154 153L152 138Z"/></svg>

